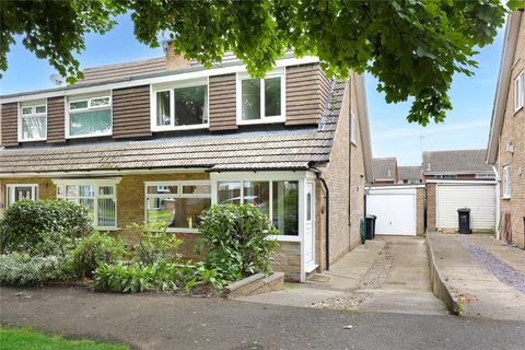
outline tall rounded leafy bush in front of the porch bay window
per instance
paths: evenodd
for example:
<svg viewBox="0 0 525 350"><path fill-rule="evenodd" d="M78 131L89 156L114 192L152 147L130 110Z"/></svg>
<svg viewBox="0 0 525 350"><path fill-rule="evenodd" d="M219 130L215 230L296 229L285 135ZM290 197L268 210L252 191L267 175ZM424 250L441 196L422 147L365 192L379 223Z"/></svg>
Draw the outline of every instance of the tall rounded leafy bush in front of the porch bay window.
<svg viewBox="0 0 525 350"><path fill-rule="evenodd" d="M203 266L217 279L238 280L256 272L271 273L271 254L278 245L267 240L279 231L252 205L212 206L200 222Z"/></svg>

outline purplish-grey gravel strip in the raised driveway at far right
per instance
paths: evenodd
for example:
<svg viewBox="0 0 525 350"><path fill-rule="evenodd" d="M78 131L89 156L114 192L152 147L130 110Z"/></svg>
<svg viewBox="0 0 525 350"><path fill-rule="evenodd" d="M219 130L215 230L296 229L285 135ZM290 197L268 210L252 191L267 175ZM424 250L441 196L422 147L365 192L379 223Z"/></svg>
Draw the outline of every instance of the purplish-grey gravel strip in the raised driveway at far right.
<svg viewBox="0 0 525 350"><path fill-rule="evenodd" d="M501 282L525 293L525 276L513 269L508 264L498 259L493 254L471 243L468 237L459 236L462 244L470 254L480 261L490 273L495 276Z"/></svg>

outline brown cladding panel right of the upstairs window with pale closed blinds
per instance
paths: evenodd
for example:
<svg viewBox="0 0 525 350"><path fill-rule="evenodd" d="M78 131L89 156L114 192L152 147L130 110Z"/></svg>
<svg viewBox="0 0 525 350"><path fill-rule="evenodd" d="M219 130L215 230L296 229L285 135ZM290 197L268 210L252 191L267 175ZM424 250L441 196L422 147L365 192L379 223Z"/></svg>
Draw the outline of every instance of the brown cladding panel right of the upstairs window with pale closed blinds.
<svg viewBox="0 0 525 350"><path fill-rule="evenodd" d="M113 138L151 136L150 85L113 91Z"/></svg>

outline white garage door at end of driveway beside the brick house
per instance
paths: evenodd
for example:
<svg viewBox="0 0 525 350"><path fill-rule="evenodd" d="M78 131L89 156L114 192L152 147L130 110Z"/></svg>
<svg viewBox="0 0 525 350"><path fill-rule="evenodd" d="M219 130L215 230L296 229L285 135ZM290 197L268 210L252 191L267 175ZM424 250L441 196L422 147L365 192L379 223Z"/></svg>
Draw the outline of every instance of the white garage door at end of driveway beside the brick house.
<svg viewBox="0 0 525 350"><path fill-rule="evenodd" d="M375 234L416 235L416 189L369 190L366 214L376 215Z"/></svg>

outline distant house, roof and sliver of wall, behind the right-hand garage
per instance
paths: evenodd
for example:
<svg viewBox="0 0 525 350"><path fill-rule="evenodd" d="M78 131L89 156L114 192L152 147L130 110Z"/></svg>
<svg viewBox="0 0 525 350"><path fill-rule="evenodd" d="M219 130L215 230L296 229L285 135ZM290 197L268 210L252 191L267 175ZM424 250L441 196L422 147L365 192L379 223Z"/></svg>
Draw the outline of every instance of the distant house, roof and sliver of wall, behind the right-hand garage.
<svg viewBox="0 0 525 350"><path fill-rule="evenodd" d="M422 176L428 179L494 179L487 150L423 152Z"/></svg>

